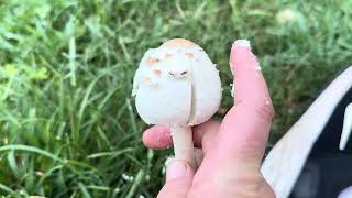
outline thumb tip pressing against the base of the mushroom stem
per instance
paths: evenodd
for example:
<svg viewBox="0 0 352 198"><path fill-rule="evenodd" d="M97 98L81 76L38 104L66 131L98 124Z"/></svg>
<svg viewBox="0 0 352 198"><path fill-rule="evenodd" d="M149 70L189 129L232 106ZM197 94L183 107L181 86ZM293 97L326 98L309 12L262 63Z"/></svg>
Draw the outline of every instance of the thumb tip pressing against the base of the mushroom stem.
<svg viewBox="0 0 352 198"><path fill-rule="evenodd" d="M166 183L157 198L186 198L195 170L180 160L173 160L166 168Z"/></svg>

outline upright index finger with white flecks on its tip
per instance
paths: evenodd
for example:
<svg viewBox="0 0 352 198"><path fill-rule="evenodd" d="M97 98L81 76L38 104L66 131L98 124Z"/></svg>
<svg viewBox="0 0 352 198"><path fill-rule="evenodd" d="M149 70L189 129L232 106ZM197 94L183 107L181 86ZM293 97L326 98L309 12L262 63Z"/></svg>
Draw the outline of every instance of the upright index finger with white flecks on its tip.
<svg viewBox="0 0 352 198"><path fill-rule="evenodd" d="M222 144L228 145L233 155L254 156L260 162L265 151L274 109L260 63L253 55L249 41L234 42L230 67L234 75L234 107L222 122L220 139L228 142Z"/></svg>

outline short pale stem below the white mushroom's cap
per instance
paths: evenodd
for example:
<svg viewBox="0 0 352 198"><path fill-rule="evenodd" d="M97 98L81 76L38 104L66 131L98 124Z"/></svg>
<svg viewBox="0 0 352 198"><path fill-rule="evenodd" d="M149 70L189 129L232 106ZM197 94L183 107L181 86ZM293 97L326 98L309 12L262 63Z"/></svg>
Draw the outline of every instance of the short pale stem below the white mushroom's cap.
<svg viewBox="0 0 352 198"><path fill-rule="evenodd" d="M170 125L174 142L174 152L177 160L186 161L197 169L193 132L190 127Z"/></svg>

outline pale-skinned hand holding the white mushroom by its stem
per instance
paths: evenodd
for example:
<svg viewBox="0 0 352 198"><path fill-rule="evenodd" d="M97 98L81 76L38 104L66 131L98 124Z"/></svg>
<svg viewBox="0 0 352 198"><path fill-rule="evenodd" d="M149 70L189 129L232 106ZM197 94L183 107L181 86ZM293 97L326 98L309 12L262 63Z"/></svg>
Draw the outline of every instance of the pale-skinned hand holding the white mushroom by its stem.
<svg viewBox="0 0 352 198"><path fill-rule="evenodd" d="M260 166L273 118L265 79L251 48L233 45L234 106L222 122L210 120L194 128L199 168L173 161L158 198L274 198ZM152 148L172 145L167 127L146 130L143 142ZM204 155L204 157L202 157Z"/></svg>

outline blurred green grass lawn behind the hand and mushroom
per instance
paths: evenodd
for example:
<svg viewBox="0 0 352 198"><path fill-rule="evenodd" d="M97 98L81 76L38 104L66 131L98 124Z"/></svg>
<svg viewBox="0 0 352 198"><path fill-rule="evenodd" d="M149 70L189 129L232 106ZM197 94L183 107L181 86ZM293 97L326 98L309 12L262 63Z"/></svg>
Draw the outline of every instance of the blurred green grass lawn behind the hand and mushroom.
<svg viewBox="0 0 352 198"><path fill-rule="evenodd" d="M146 125L131 87L143 53L173 37L200 44L218 63L223 108L231 106L231 43L251 40L276 109L273 144L351 64L350 8L331 0L0 1L0 194L154 197L170 152L143 146ZM287 9L293 19L277 18Z"/></svg>

